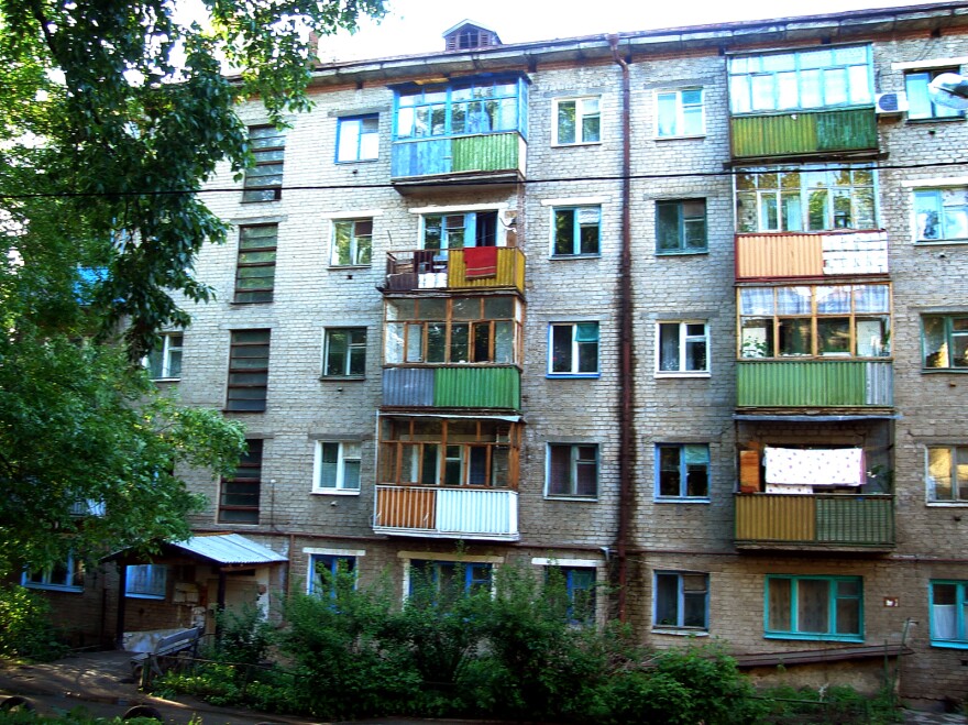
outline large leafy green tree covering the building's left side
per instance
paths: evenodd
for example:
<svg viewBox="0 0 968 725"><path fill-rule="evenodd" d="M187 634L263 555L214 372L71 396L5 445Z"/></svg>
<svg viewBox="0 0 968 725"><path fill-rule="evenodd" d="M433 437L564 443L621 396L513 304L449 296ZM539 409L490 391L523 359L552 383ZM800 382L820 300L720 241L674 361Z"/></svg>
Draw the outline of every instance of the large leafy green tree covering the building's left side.
<svg viewBox="0 0 968 725"><path fill-rule="evenodd" d="M243 446L238 425L160 397L139 362L189 323L176 298L212 296L193 262L226 227L196 193L219 162L252 162L234 105L305 109L309 32L383 6L206 9L208 30L168 0L0 0L0 573L184 538L199 502L173 466L227 470ZM105 515L73 514L88 501Z"/></svg>

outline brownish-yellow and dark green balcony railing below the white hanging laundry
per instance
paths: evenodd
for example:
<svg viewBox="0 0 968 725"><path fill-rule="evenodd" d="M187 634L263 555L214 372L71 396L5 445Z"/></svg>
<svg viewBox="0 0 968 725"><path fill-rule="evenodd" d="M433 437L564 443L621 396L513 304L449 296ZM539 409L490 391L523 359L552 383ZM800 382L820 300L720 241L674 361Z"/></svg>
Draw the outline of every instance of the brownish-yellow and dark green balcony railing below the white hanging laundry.
<svg viewBox="0 0 968 725"><path fill-rule="evenodd" d="M735 498L738 548L894 546L891 495L756 493Z"/></svg>

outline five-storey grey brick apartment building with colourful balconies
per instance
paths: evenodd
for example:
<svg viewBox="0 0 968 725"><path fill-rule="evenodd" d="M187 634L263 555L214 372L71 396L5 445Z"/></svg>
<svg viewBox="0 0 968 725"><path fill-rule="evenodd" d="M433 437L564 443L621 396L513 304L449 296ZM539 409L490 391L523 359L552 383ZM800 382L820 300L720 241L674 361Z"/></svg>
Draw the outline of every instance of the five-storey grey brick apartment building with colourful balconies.
<svg viewBox="0 0 968 725"><path fill-rule="evenodd" d="M30 583L112 637L519 561L657 647L968 695L968 3L444 37L240 109L218 301L152 364L249 455L127 597Z"/></svg>

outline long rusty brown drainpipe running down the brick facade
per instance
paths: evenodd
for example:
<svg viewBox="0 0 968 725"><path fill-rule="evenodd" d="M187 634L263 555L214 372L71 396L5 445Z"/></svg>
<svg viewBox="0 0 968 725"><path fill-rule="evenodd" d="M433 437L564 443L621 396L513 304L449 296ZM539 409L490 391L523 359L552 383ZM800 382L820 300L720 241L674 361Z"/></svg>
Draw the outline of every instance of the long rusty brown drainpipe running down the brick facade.
<svg viewBox="0 0 968 725"><path fill-rule="evenodd" d="M635 462L632 430L632 305L631 305L631 119L628 63L618 54L618 35L608 35L612 57L622 68L622 256L618 265L618 619L626 620L626 590L628 587L627 547L632 510L631 477Z"/></svg>

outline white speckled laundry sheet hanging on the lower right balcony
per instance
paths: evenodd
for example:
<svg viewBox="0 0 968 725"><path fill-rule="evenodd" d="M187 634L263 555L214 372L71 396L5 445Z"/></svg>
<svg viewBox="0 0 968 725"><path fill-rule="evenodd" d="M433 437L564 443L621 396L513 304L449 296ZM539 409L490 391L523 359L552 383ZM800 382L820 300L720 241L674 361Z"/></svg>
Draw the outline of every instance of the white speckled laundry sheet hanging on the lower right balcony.
<svg viewBox="0 0 968 725"><path fill-rule="evenodd" d="M766 448L767 483L860 486L866 482L862 448Z"/></svg>

